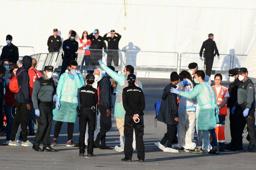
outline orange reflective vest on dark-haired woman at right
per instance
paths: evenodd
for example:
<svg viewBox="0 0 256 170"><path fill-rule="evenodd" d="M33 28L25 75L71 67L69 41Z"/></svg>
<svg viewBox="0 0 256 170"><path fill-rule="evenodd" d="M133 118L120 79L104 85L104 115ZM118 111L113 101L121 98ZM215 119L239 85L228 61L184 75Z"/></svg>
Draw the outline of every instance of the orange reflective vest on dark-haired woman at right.
<svg viewBox="0 0 256 170"><path fill-rule="evenodd" d="M215 86L213 86L213 90L214 90L214 92L215 92L215 94L217 96L217 105L219 106L221 103L224 102L224 97L225 97L226 92L228 91L228 89L226 87L224 87L224 86L221 86L219 94L217 94ZM219 109L219 115L220 116L228 115L227 109L228 109L227 104L225 104L224 107Z"/></svg>

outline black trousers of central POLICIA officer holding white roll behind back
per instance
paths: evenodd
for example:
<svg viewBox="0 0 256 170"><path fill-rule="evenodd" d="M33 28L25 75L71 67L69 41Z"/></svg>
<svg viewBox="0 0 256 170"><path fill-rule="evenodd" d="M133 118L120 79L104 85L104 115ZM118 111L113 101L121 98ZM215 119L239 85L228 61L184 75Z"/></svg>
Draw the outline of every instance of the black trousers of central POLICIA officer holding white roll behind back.
<svg viewBox="0 0 256 170"><path fill-rule="evenodd" d="M125 114L124 117L124 155L126 159L132 160L132 143L133 143L133 129L135 132L137 157L139 160L145 159L145 147L143 142L144 135L144 120L143 115L139 117L140 121L135 123L129 115Z"/></svg>

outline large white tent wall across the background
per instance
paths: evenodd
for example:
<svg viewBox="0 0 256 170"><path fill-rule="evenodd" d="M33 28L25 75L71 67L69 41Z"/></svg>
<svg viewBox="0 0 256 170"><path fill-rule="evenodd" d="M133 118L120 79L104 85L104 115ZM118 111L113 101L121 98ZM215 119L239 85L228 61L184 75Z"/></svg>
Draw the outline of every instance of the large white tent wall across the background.
<svg viewBox="0 0 256 170"><path fill-rule="evenodd" d="M79 37L84 30L98 28L103 36L115 29L121 50L132 43L179 54L198 53L209 33L222 54L247 54L256 39L256 0L1 0L0 9L0 45L11 34L13 44L36 53L47 52L53 28L64 40L70 29Z"/></svg>

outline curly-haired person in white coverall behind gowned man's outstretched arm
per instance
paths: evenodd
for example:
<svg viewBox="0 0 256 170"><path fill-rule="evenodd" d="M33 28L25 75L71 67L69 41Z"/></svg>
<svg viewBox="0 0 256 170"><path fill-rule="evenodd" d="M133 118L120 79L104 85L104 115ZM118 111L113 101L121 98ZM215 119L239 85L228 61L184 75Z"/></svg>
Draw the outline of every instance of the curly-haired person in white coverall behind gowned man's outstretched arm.
<svg viewBox="0 0 256 170"><path fill-rule="evenodd" d="M177 90L190 92L193 90L192 77L190 73L183 70L180 74L180 83ZM186 78L187 77L187 78ZM184 78L184 79L183 79ZM190 80L191 79L191 80ZM194 138L194 128L196 125L196 99L178 96L180 98L180 106L178 108L179 123L178 123L178 151L190 151L196 148L196 143L192 142Z"/></svg>

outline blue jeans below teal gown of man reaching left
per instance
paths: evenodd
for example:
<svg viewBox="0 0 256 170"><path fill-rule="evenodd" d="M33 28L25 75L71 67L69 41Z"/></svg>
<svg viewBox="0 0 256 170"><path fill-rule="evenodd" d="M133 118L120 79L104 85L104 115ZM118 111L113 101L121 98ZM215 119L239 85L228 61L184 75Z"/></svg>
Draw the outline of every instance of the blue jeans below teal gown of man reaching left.
<svg viewBox="0 0 256 170"><path fill-rule="evenodd" d="M208 145L206 144L206 141L209 141L209 133L212 136L212 148L213 149L217 149L218 148L218 143L217 143L217 136L215 133L214 129L210 129L210 130L198 130L198 134L197 134L197 140L198 140L198 144L197 144L197 148L202 148L203 145L203 139L204 140L204 145Z"/></svg>

